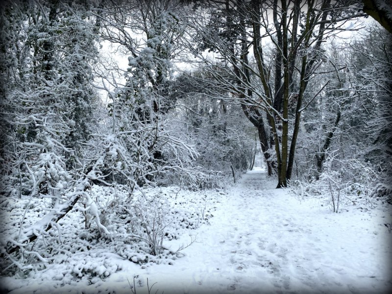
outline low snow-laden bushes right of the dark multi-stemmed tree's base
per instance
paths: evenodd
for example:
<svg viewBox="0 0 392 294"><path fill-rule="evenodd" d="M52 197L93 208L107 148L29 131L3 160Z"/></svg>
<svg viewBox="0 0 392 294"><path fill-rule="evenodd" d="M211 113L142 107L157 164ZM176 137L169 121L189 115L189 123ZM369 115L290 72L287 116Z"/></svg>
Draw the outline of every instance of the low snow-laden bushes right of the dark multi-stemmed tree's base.
<svg viewBox="0 0 392 294"><path fill-rule="evenodd" d="M360 209L375 207L376 202L391 202L392 188L385 184L382 172L370 163L356 159L337 160L335 152L327 157L319 180L296 180L291 184L294 195L314 197L329 205L333 212L354 205Z"/></svg>

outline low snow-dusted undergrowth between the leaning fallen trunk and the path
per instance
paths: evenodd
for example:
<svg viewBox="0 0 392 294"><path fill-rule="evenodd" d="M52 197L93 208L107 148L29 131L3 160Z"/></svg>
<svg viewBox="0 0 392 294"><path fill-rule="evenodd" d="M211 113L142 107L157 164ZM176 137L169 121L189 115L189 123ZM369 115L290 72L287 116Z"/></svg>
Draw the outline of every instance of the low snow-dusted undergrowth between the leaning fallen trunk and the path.
<svg viewBox="0 0 392 294"><path fill-rule="evenodd" d="M201 191L171 186L139 189L129 196L125 185L116 189L95 185L91 198L98 204L100 223L110 234L100 232L90 219L89 229L84 229L81 236L95 239L110 252L134 263L171 263L180 253L177 248L169 250L165 242L208 223L215 209L208 201L226 195L220 189L209 193L213 194L210 198Z"/></svg>

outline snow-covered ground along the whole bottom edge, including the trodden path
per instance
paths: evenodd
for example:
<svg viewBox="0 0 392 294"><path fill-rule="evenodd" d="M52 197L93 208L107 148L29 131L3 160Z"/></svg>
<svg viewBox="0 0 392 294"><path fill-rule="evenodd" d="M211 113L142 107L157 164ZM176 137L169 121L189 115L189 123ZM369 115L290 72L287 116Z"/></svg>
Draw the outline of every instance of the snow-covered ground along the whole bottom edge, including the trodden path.
<svg viewBox="0 0 392 294"><path fill-rule="evenodd" d="M119 269L104 281L59 287L62 268L56 272L52 265L31 278L2 278L2 286L12 294L114 294L132 293L130 284L135 283L133 291L143 294L148 293L148 278L150 288L155 283L150 293L167 294L368 294L392 289L390 208L364 211L351 206L332 213L317 199L300 199L275 185L255 169L228 193L205 195L208 221L196 229L180 229L179 238L165 241L175 251L196 239L180 251L184 256L171 262L140 265L101 252L89 255L91 262L106 254ZM177 202L182 209L195 207ZM70 258L82 262L77 254Z"/></svg>

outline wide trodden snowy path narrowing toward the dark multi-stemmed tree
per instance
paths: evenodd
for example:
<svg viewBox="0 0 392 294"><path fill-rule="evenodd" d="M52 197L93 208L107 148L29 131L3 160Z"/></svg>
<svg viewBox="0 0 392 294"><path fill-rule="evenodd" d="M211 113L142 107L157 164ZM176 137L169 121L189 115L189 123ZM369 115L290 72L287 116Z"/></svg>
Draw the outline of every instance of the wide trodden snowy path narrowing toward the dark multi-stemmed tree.
<svg viewBox="0 0 392 294"><path fill-rule="evenodd" d="M184 250L185 257L173 266L147 268L150 284L157 282L154 289L383 293L392 286L392 239L378 225L383 220L363 212L333 214L274 188L260 170L245 174L211 225L197 230L197 243Z"/></svg>

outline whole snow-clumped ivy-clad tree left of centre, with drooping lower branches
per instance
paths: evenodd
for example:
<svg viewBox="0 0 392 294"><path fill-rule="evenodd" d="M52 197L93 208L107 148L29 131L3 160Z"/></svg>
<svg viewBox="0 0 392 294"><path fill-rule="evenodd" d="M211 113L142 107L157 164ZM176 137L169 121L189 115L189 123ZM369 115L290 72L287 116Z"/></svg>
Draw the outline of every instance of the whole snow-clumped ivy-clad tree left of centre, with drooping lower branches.
<svg viewBox="0 0 392 294"><path fill-rule="evenodd" d="M147 31L147 45L128 58L126 84L118 88L109 110L116 144L108 155L130 191L153 184L167 172L192 176L196 150L168 129L168 87L172 80L172 37L178 19L161 12Z"/></svg>

